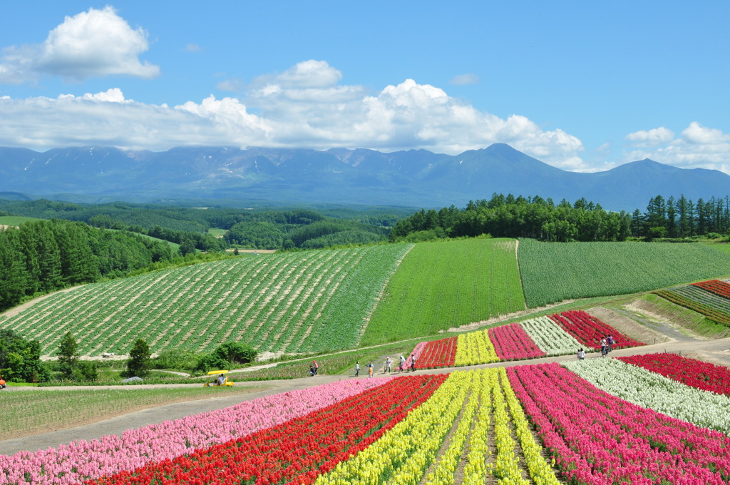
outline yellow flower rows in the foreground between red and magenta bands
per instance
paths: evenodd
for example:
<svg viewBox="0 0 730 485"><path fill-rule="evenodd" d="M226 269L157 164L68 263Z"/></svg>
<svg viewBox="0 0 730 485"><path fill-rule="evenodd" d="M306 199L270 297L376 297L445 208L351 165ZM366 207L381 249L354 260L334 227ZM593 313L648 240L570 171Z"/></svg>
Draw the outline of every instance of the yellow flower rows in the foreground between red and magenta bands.
<svg viewBox="0 0 730 485"><path fill-rule="evenodd" d="M444 443L455 425L449 442ZM529 430L507 374L499 368L452 373L430 400L356 457L320 476L315 485L415 485L424 475L426 484L452 485L465 452L464 484L483 484L490 473L500 484L529 484L518 466L513 427L532 481L558 484ZM497 448L495 459L487 446L490 432ZM445 450L437 459L443 445Z"/></svg>

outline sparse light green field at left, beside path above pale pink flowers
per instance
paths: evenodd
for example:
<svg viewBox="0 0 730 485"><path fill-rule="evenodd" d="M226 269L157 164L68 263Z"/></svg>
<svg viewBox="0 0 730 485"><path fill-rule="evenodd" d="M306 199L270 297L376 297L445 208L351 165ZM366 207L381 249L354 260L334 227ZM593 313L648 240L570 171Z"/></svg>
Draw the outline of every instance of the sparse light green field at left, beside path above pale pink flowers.
<svg viewBox="0 0 730 485"><path fill-rule="evenodd" d="M0 440L27 436L48 430L79 426L131 413L136 410L169 404L171 402L208 399L223 394L250 394L262 386L230 386L222 388L168 388L168 389L77 389L73 391L19 391L4 392L2 396L3 421L12 426L0 427Z"/></svg>

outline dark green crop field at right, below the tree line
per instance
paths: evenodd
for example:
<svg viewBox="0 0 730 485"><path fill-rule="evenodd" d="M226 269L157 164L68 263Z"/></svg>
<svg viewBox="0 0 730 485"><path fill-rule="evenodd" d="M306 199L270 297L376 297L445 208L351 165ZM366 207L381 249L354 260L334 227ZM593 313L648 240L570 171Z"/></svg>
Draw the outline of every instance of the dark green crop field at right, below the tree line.
<svg viewBox="0 0 730 485"><path fill-rule="evenodd" d="M520 240L519 262L530 308L730 274L730 254L701 243Z"/></svg>

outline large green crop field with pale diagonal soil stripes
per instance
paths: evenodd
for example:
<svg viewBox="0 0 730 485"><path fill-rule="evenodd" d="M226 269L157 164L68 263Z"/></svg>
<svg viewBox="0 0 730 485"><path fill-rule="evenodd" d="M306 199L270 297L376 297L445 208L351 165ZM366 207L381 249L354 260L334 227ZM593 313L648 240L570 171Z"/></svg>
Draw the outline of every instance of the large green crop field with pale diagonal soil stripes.
<svg viewBox="0 0 730 485"><path fill-rule="evenodd" d="M259 351L352 348L411 246L261 254L94 283L0 316L0 327L50 355L66 332L84 355L127 354L137 338L153 351L227 340Z"/></svg>

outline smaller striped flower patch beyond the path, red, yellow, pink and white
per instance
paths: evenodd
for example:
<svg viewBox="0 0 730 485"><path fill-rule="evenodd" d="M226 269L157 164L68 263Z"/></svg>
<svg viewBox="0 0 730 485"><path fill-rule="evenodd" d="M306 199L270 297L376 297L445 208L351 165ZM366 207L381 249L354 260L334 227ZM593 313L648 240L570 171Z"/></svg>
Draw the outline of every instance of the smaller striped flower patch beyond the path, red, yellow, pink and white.
<svg viewBox="0 0 730 485"><path fill-rule="evenodd" d="M426 343L417 367L462 367L505 360L575 354L601 348L612 335L614 348L644 345L582 310L555 313ZM421 345L421 344L419 344Z"/></svg>

